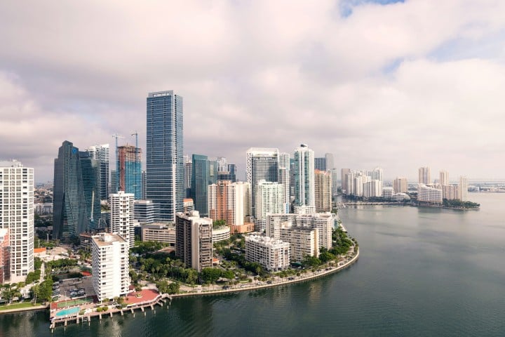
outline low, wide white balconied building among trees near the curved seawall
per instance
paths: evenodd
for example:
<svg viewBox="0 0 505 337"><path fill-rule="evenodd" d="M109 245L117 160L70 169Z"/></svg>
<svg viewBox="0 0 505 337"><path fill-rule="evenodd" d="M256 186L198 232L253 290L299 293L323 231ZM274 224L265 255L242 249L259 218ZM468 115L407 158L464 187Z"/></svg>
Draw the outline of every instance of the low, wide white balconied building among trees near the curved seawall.
<svg viewBox="0 0 505 337"><path fill-rule="evenodd" d="M270 237L245 237L245 259L260 263L266 270L283 270L290 265L290 244Z"/></svg>

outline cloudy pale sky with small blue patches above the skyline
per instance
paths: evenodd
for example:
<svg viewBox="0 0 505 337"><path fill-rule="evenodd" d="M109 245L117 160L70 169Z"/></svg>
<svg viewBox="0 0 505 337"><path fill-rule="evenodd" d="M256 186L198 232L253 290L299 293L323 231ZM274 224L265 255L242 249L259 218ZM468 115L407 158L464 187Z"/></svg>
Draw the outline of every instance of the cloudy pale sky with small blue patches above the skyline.
<svg viewBox="0 0 505 337"><path fill-rule="evenodd" d="M145 148L147 93L184 98L184 154L301 143L385 178L505 178L505 1L1 1L0 159ZM112 151L114 153L114 151ZM114 159L114 154L112 154ZM111 164L114 168L114 165Z"/></svg>

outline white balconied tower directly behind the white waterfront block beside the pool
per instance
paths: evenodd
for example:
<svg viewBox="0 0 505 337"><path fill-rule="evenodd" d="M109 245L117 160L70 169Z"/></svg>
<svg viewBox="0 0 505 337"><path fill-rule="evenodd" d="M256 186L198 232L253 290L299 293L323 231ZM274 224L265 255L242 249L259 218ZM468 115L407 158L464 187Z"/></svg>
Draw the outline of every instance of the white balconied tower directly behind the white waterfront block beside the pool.
<svg viewBox="0 0 505 337"><path fill-rule="evenodd" d="M110 194L111 232L121 235L129 247L135 243L135 195L119 191Z"/></svg>

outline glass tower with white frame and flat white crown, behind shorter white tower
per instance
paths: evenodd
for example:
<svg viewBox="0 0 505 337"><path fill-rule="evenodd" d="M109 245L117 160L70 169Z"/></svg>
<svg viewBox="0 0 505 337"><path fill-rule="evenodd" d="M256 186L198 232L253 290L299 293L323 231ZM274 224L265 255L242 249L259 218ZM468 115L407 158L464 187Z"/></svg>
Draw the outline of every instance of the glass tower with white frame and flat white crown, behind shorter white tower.
<svg viewBox="0 0 505 337"><path fill-rule="evenodd" d="M256 213L256 186L260 180L278 182L278 149L251 147L245 154L245 173L251 187L251 211Z"/></svg>

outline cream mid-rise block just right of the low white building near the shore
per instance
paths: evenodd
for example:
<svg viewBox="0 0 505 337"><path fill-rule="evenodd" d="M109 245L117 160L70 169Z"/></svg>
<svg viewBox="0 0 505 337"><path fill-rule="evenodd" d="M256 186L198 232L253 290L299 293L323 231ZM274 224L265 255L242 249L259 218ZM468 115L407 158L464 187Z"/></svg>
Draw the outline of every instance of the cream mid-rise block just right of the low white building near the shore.
<svg viewBox="0 0 505 337"><path fill-rule="evenodd" d="M317 228L282 227L281 241L289 242L291 260L301 262L305 256L319 256L319 234Z"/></svg>

